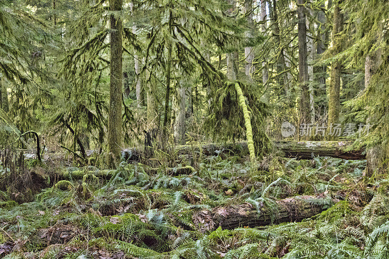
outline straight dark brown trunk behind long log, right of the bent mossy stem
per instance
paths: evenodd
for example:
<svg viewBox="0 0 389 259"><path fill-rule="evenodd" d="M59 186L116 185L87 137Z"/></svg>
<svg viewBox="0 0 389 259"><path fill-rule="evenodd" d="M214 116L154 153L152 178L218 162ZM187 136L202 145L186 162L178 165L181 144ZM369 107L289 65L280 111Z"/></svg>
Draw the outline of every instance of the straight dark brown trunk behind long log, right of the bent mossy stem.
<svg viewBox="0 0 389 259"><path fill-rule="evenodd" d="M298 0L298 37L299 37L299 83L301 88L299 102L299 125L308 123L309 118L309 91L308 91L308 62L307 62L307 34L305 20L306 0ZM300 134L299 134L300 135Z"/></svg>

